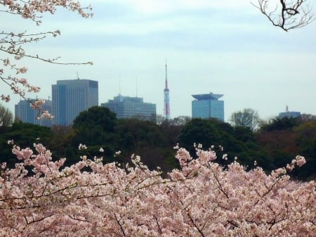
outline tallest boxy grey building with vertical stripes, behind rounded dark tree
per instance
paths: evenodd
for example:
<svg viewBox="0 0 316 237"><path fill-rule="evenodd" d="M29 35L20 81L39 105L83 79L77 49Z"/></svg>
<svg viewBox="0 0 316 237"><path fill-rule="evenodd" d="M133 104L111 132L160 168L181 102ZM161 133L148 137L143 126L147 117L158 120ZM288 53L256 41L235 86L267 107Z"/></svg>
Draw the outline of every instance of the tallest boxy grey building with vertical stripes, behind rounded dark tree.
<svg viewBox="0 0 316 237"><path fill-rule="evenodd" d="M98 82L90 79L60 80L52 86L53 123L71 125L80 112L98 105Z"/></svg>

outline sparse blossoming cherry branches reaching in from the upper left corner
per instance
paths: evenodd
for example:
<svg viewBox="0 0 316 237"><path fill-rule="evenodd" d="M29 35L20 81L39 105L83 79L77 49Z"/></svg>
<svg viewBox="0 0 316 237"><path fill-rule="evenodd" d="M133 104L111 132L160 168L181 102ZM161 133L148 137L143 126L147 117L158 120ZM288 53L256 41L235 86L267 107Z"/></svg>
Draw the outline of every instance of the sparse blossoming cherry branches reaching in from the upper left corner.
<svg viewBox="0 0 316 237"><path fill-rule="evenodd" d="M44 13L54 14L57 8L66 8L77 12L84 18L92 16L92 13L89 13L91 11L90 6L81 7L79 2L73 0L0 0L0 12L2 14L11 14L23 19L29 19L36 25L41 24ZM25 96L27 92L36 93L40 88L29 84L28 80L22 76L27 72L27 67L18 65L18 60L21 58L32 58L54 64L91 64L91 62L65 63L61 62L58 57L46 58L46 56L41 56L40 52L34 53L25 50L26 44L41 41L49 36L57 37L60 34L60 30L38 32L35 34L28 33L27 31L14 32L13 30L10 32L0 32L0 80L11 89L13 94L18 94L25 100L27 100ZM1 94L1 100L10 101L10 94ZM41 105L45 102L44 100L29 102L32 108L41 112L39 113L40 117L51 117L48 111L41 111Z"/></svg>

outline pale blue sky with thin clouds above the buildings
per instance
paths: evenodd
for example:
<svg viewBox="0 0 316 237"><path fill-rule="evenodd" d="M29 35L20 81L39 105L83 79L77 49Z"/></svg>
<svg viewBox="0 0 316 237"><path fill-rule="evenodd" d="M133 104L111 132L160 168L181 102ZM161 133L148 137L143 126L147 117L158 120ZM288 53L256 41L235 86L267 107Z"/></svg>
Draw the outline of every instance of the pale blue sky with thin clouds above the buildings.
<svg viewBox="0 0 316 237"><path fill-rule="evenodd" d="M256 0L255 0L256 1ZM273 1L273 0L272 0ZM25 47L27 53L60 62L27 58L25 77L41 87L30 98L48 98L61 79L99 82L99 103L117 96L143 97L163 115L165 64L171 117L191 116L192 94L223 94L225 121L252 108L262 119L284 112L316 115L316 21L284 32L247 0L98 0L93 18L58 9L32 21L0 15L2 30L60 30ZM310 0L316 14L316 0ZM10 24L7 24L10 22ZM3 57L4 54L0 53ZM2 84L0 94L10 91ZM11 110L20 98L6 104Z"/></svg>

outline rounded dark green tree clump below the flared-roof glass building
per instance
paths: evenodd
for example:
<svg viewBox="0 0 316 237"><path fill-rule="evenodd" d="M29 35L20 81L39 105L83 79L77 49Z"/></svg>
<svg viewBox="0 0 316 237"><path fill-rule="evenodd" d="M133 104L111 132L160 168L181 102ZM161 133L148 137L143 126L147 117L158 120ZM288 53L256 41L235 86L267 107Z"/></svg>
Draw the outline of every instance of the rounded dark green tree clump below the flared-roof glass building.
<svg viewBox="0 0 316 237"><path fill-rule="evenodd" d="M260 160L261 167L272 169L270 158L261 155L262 150L258 149L254 136L249 136L249 139L242 141L237 139L246 136L246 132L252 132L249 129L241 127L232 127L230 124L219 120L202 120L193 119L187 123L180 132L179 144L186 148L190 153L194 153L195 147L193 143L202 143L206 148L216 148L218 153L223 155L223 159L218 159L221 165L227 165L225 155L237 156L239 162L243 165L253 166L254 160ZM248 147L250 145L250 147Z"/></svg>

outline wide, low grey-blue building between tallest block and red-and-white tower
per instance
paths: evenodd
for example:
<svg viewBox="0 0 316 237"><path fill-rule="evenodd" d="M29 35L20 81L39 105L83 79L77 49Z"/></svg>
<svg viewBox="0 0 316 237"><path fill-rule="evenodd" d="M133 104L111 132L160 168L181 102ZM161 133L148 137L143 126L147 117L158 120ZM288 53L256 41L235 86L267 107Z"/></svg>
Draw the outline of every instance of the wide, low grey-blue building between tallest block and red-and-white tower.
<svg viewBox="0 0 316 237"><path fill-rule="evenodd" d="M129 96L114 96L101 106L109 108L117 114L118 119L138 118L140 120L154 120L156 117L156 104L145 103L143 98Z"/></svg>

